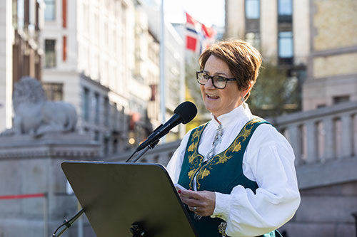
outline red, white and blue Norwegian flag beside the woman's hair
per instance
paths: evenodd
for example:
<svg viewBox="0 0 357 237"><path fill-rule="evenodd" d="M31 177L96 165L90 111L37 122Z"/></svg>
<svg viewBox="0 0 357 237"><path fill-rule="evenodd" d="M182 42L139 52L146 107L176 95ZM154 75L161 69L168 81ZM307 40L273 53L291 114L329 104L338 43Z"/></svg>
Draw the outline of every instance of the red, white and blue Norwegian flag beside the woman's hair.
<svg viewBox="0 0 357 237"><path fill-rule="evenodd" d="M214 42L216 31L186 13L186 49L201 53Z"/></svg>

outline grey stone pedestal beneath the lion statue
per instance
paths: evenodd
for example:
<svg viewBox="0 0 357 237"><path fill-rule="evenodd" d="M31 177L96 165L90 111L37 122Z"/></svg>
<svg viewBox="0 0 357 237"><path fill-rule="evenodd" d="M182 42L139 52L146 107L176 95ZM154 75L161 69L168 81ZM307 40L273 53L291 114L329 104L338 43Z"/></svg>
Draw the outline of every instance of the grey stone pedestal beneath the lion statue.
<svg viewBox="0 0 357 237"><path fill-rule="evenodd" d="M97 160L99 152L98 143L76 133L0 137L0 196L46 195L0 199L0 236L50 236L77 208L75 196L66 194L61 162Z"/></svg>

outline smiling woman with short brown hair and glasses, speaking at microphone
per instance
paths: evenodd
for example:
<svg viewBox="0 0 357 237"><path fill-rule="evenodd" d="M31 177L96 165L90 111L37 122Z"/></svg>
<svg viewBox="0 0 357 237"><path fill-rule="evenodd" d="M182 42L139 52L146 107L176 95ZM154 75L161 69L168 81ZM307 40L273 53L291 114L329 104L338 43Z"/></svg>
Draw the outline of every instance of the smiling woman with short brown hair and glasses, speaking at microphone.
<svg viewBox="0 0 357 237"><path fill-rule="evenodd" d="M211 121L182 139L168 164L199 236L275 236L300 204L293 150L245 100L261 55L244 41L206 49L196 73Z"/></svg>

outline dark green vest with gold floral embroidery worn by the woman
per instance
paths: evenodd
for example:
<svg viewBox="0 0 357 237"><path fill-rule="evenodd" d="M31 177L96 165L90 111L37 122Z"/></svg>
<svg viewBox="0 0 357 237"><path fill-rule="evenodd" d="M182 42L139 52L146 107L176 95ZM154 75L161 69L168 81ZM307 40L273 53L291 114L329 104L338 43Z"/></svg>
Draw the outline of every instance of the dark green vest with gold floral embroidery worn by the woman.
<svg viewBox="0 0 357 237"><path fill-rule="evenodd" d="M254 130L263 123L268 122L258 117L247 122L236 139L225 151L216 154L216 156L205 163L202 162L203 155L198 153L198 144L207 123L196 127L188 138L178 184L181 184L186 189L193 190L193 179L196 176L198 191L217 191L222 194L230 194L232 189L240 184L255 193L258 185L243 174L243 154ZM187 206L186 209L188 210ZM218 226L222 226L225 223L221 218L203 216L201 219L196 219L193 212L189 210L188 214L193 221L198 236L222 236L222 233L218 232ZM273 237L275 234L272 232L266 234L266 236Z"/></svg>

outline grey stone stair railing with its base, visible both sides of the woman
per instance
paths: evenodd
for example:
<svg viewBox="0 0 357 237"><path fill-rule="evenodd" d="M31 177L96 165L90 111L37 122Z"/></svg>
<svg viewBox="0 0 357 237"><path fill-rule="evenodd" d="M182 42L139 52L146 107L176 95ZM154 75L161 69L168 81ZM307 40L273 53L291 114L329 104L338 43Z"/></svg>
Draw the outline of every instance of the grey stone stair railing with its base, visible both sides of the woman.
<svg viewBox="0 0 357 237"><path fill-rule="evenodd" d="M267 120L291 143L301 188L357 179L356 101ZM139 162L166 165L178 145L179 141L158 145ZM124 162L130 154L106 161Z"/></svg>

